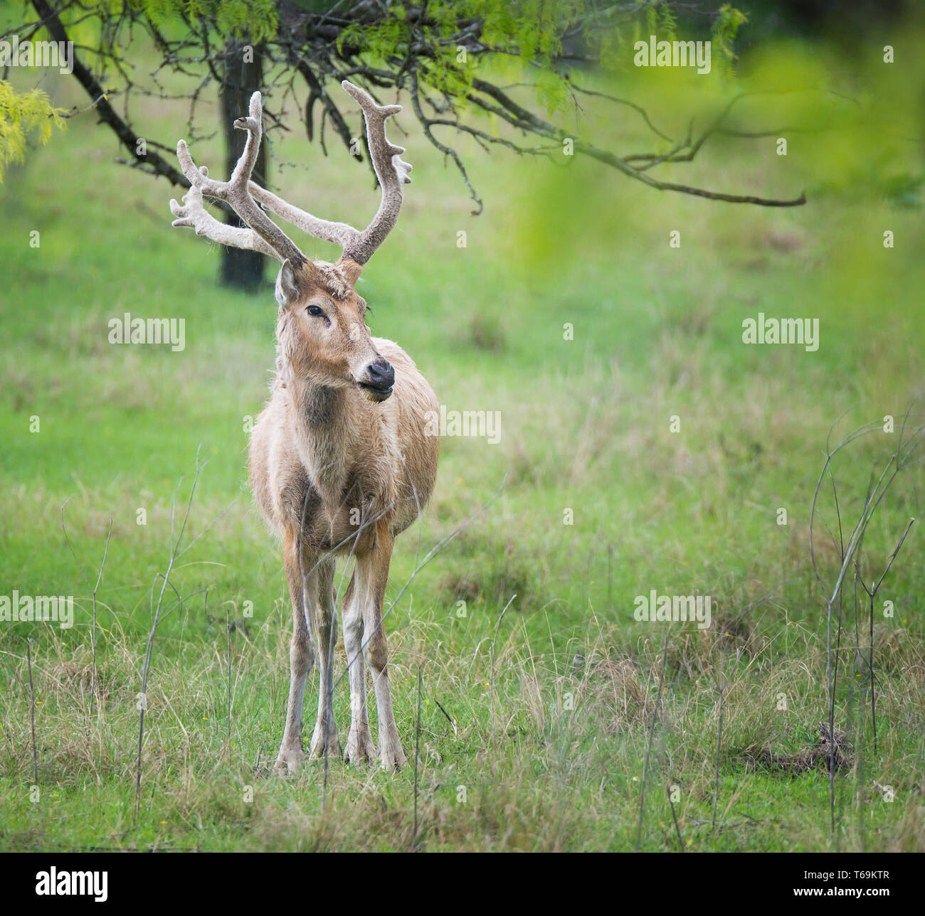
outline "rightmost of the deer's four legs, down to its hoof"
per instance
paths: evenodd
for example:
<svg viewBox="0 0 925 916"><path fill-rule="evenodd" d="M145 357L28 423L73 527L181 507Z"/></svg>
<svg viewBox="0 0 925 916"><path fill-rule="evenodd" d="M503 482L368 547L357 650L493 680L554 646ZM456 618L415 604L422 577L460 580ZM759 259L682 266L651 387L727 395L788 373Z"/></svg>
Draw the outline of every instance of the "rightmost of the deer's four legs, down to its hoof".
<svg viewBox="0 0 925 916"><path fill-rule="evenodd" d="M392 711L392 695L388 687L388 643L382 626L382 605L388 582L388 565L392 558L392 543L388 526L377 525L374 546L357 559L358 598L363 606L364 658L373 676L373 689L376 691L379 760L385 769L401 767L406 763Z"/></svg>

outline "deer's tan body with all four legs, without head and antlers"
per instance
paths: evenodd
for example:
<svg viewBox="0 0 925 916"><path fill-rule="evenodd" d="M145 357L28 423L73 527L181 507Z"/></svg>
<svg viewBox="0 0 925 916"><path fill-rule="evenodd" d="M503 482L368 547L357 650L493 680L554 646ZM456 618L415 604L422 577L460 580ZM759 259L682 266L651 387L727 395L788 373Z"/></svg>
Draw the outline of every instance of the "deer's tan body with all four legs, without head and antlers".
<svg viewBox="0 0 925 916"><path fill-rule="evenodd" d="M333 557L338 555L355 558L357 570L342 605L351 685L346 757L357 763L374 757L365 703L364 667L369 666L379 712L379 759L387 766L405 762L391 714L382 603L392 543L434 488L438 439L424 435L423 418L438 406L430 385L398 345L371 341L395 367L392 397L374 404L354 389L320 385L284 367L251 437L251 487L264 518L283 538L295 621L290 646L295 692L290 690L279 760L292 770L303 757L301 702L315 653L310 625L303 627L302 621L313 617L321 686L310 751L315 756L326 748L339 751L329 696L330 650L337 641Z"/></svg>

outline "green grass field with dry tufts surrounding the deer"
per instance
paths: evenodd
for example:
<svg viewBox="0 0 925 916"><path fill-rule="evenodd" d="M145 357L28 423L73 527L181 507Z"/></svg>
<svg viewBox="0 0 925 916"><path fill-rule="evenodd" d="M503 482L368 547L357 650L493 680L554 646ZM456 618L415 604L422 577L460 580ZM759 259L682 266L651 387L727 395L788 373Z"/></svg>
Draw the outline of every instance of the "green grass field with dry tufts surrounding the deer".
<svg viewBox="0 0 925 916"><path fill-rule="evenodd" d="M54 94L85 104L63 79ZM148 101L142 113L157 139L182 136L182 104ZM247 490L245 432L274 360L271 270L259 295L218 287L218 251L170 227L179 190L115 165L115 141L89 114L7 171L0 594L72 594L75 624L0 623L0 845L620 850L638 833L645 850L677 849L679 834L698 850L925 849L919 522L874 609L876 751L853 581L845 592L835 724L850 760L835 777L834 833L824 769L753 759L756 747L806 752L827 718L809 509L833 421L850 410L846 434L892 415L894 433L836 462L850 528L872 462L896 447L921 388L919 207L863 177L827 189L822 141L806 136L787 157L771 139L718 143L666 173L746 192L806 187L808 205L791 210L659 194L601 165L463 144L487 202L475 218L457 174L409 129L414 182L361 287L370 324L413 356L448 409L497 410L501 425L495 445L443 439L436 494L393 560L400 774L336 759L327 773L323 762L297 777L272 770L290 605ZM838 142L825 154L850 159ZM368 173L340 151L323 160L294 130L275 152L306 164L273 175L291 201L359 223L374 211ZM221 174L215 143L193 153ZM108 321L127 311L185 319L185 348L109 344ZM759 312L818 318L818 350L744 345L742 321ZM171 576L182 605L167 601L154 636L136 815L155 577L197 452L184 543L200 540ZM919 515L920 492L914 465L884 498L864 542L867 580ZM829 488L821 508L835 525ZM94 698L92 594L110 519ZM836 552L823 527L817 535L833 581ZM712 627L673 625L664 657L665 625L633 616L635 596L653 589L709 594ZM866 599L858 607L867 652ZM226 613L239 621L230 650ZM316 671L309 683L307 724ZM343 735L346 684L335 707Z"/></svg>

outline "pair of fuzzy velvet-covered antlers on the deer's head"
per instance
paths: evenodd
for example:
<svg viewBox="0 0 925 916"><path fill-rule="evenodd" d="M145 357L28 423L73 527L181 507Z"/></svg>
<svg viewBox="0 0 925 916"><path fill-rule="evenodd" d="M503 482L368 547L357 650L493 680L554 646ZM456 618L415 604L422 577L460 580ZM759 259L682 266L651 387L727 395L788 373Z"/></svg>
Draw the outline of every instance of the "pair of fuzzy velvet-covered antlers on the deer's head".
<svg viewBox="0 0 925 916"><path fill-rule="evenodd" d="M369 261L398 221L404 196L402 186L411 183L408 173L412 166L401 160L404 148L390 143L386 137L386 118L398 114L401 105L376 104L368 92L346 79L341 86L363 109L370 158L382 188L379 209L369 226L361 231L346 223L318 219L251 180L262 136L263 104L259 92L251 96L250 116L240 117L234 122L236 128L248 131L248 137L244 152L228 181L209 178L204 165L196 168L186 142L180 140L177 144L177 157L183 174L190 180L190 190L184 196L182 206L175 200L170 201L170 210L178 217L173 225L191 226L196 235L223 245L262 251L280 261L288 258L293 266L306 262L308 259L302 251L261 209L260 204L263 204L267 210L306 234L340 245L343 249L341 260L350 260L361 266ZM228 202L250 228L219 222L205 210L203 196Z"/></svg>

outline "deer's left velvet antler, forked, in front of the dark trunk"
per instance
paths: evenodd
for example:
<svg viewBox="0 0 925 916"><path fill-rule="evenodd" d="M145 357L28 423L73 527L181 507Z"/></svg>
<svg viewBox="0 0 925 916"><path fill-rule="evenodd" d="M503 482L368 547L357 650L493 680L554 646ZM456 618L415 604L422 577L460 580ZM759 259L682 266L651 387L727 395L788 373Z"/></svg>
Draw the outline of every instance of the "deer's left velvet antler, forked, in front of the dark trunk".
<svg viewBox="0 0 925 916"><path fill-rule="evenodd" d="M197 235L204 235L215 241L237 248L250 248L272 254L280 261L287 259L293 267L307 262L307 258L295 243L276 223L260 209L251 196L251 173L260 153L260 141L263 136L263 103L260 92L251 96L250 112L247 117L239 117L234 126L247 130L244 151L240 154L228 181L216 181L208 177L208 170L196 168L192 161L185 140L177 144L177 158L183 174L190 181L190 191L184 198L186 207L180 207L176 201L170 202L170 209L179 219L174 226L192 226ZM256 185L253 185L255 188ZM216 198L230 204L240 218L250 226L250 230L225 226L210 216L203 208L203 195ZM181 212L184 211L184 212ZM250 234L249 234L250 231Z"/></svg>

